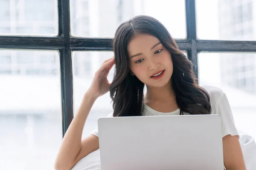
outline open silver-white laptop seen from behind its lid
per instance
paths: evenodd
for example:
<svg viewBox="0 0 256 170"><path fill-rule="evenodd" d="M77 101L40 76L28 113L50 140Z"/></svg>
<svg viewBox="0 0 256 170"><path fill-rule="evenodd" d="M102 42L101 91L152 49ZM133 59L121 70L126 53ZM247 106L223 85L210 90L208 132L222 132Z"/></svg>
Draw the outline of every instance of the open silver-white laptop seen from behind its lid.
<svg viewBox="0 0 256 170"><path fill-rule="evenodd" d="M219 115L100 118L102 170L223 170Z"/></svg>

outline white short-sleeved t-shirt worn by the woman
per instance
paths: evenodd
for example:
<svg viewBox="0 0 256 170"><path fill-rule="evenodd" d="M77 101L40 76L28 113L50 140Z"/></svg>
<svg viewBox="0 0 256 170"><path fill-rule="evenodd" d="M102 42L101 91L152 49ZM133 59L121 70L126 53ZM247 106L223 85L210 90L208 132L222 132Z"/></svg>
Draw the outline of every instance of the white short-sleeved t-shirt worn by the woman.
<svg viewBox="0 0 256 170"><path fill-rule="evenodd" d="M210 103L212 106L211 114L218 114L221 116L222 137L229 134L232 136L235 136L235 135L239 136L226 94L221 89L216 87L202 86L202 88L204 88L209 93ZM163 113L150 108L148 105L144 103L144 110L143 110L144 116L179 115L179 114L180 114L180 109L177 109L176 111L169 112L169 113ZM183 112L183 114L189 114L189 113ZM113 112L111 112L107 117L113 117ZM96 127L96 129L93 130L90 134L99 136L98 127Z"/></svg>

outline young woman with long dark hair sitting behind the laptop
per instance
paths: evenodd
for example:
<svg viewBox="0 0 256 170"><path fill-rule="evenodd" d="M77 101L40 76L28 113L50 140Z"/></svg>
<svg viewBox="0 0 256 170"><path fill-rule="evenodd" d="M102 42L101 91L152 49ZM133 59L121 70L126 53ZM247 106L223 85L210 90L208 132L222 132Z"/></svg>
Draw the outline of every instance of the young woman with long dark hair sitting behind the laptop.
<svg viewBox="0 0 256 170"><path fill-rule="evenodd" d="M215 87L198 86L192 62L158 20L137 16L122 23L113 39L113 51L114 58L106 60L96 71L84 94L61 144L56 170L70 170L99 149L97 128L87 138L81 140L81 136L93 103L108 91L113 100L109 116L219 114L224 165L227 170L246 169L226 95ZM107 76L114 64L113 82L109 83Z"/></svg>

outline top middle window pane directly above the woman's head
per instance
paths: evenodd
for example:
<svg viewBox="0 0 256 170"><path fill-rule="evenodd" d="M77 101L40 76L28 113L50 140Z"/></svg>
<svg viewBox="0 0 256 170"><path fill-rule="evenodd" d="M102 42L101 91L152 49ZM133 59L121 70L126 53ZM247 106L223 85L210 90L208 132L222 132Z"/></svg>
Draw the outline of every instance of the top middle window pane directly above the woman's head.
<svg viewBox="0 0 256 170"><path fill-rule="evenodd" d="M172 37L186 38L184 0L70 0L71 34L113 37L122 22L140 14L155 17Z"/></svg>

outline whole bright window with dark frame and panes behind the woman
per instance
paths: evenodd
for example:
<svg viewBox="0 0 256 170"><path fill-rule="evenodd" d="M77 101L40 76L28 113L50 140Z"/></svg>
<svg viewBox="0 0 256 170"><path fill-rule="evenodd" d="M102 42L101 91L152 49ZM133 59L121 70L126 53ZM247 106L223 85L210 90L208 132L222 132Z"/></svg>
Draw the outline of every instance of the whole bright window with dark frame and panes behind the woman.
<svg viewBox="0 0 256 170"><path fill-rule="evenodd" d="M236 126L256 139L255 0L41 1L0 0L0 169L52 169L95 71L113 56L114 31L139 14L166 26L199 85L221 88ZM97 99L83 137L112 109L109 93Z"/></svg>

